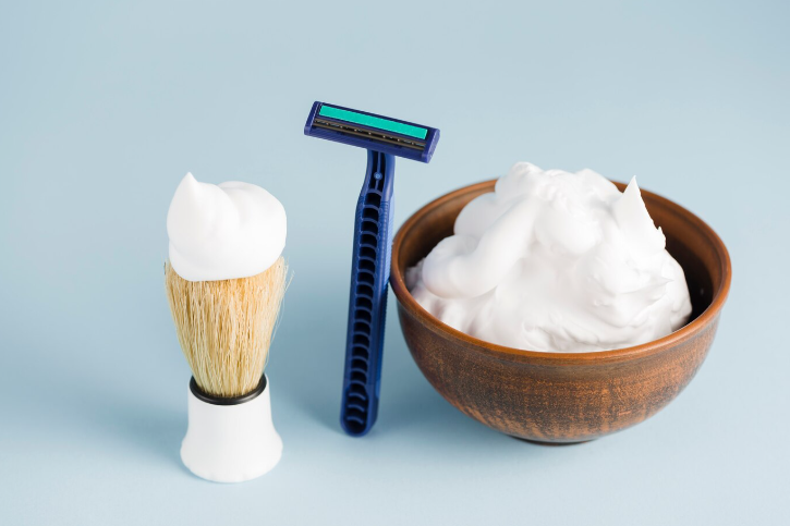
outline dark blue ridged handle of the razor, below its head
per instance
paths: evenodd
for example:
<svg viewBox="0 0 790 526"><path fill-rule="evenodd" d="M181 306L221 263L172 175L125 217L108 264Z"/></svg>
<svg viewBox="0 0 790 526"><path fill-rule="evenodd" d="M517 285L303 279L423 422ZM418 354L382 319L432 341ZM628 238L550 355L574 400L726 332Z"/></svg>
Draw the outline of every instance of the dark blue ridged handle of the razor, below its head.
<svg viewBox="0 0 790 526"><path fill-rule="evenodd" d="M365 184L356 205L349 327L340 424L363 436L378 414L387 285L392 248L394 157L367 151Z"/></svg>

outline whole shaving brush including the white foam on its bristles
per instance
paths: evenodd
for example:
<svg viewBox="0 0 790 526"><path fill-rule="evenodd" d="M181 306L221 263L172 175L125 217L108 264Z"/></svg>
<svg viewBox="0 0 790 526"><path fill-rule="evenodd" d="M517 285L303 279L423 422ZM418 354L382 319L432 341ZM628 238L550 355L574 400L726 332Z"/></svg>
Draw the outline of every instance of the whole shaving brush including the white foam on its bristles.
<svg viewBox="0 0 790 526"><path fill-rule="evenodd" d="M285 291L285 211L259 186L187 173L168 235L166 290L193 374L181 460L217 482L259 477L282 454L264 368Z"/></svg>

